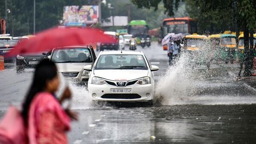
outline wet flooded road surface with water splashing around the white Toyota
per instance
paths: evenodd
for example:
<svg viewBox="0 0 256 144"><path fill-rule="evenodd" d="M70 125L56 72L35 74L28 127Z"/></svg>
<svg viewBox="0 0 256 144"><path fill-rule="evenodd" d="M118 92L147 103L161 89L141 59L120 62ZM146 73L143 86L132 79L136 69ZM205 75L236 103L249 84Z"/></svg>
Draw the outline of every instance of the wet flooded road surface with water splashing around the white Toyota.
<svg viewBox="0 0 256 144"><path fill-rule="evenodd" d="M209 70L190 69L182 59L169 68L166 51L156 43L139 50L160 67L154 73L154 105L93 105L85 86L71 85L79 122L72 123L70 144L256 142L256 91L228 75L238 71L238 64L213 62ZM17 75L10 68L0 73L1 117L10 103L20 105L32 71Z"/></svg>

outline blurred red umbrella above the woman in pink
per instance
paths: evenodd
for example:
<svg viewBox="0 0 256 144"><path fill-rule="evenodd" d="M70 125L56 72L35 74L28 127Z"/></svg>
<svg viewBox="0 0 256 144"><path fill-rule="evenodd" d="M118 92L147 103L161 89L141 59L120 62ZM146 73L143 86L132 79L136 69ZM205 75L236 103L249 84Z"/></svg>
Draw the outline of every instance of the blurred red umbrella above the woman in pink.
<svg viewBox="0 0 256 144"><path fill-rule="evenodd" d="M116 42L100 29L58 29L52 28L39 32L36 37L22 40L6 56L24 53L36 53L51 50L56 47L87 45L97 42Z"/></svg>

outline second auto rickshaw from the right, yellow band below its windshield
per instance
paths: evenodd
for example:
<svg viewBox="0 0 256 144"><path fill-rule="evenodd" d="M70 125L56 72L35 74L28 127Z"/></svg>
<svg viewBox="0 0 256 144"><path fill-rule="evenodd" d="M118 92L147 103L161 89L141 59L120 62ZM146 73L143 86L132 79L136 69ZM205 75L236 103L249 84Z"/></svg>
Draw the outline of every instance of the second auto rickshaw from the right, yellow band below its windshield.
<svg viewBox="0 0 256 144"><path fill-rule="evenodd" d="M233 63L237 52L236 35L222 34L219 52L222 61Z"/></svg>

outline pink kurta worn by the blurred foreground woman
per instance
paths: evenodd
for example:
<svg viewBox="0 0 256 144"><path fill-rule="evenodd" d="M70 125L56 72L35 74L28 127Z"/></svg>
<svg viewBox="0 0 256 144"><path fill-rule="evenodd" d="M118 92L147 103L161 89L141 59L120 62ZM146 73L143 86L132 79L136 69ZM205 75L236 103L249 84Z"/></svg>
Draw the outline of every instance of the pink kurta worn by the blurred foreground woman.
<svg viewBox="0 0 256 144"><path fill-rule="evenodd" d="M29 144L67 144L70 118L52 94L38 93L29 109Z"/></svg>

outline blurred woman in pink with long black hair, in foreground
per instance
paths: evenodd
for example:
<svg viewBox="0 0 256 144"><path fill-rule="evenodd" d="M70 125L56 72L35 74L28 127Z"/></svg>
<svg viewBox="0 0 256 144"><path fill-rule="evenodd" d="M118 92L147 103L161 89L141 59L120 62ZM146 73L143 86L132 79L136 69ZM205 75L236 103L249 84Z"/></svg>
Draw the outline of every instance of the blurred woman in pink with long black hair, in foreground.
<svg viewBox="0 0 256 144"><path fill-rule="evenodd" d="M62 102L71 98L71 92L66 88L61 98L56 98L54 93L59 84L55 64L49 60L41 61L23 103L22 116L29 144L68 143L66 132L70 130L70 119L77 120L77 114L62 109Z"/></svg>

